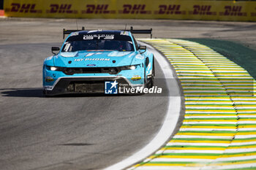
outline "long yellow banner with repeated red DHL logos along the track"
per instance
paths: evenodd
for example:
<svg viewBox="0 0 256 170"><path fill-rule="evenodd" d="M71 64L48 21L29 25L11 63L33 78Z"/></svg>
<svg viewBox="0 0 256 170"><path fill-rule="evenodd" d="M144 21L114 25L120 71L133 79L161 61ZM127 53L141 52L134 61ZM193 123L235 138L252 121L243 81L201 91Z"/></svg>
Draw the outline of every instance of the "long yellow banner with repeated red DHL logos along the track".
<svg viewBox="0 0 256 170"><path fill-rule="evenodd" d="M4 15L23 18L256 21L256 1L4 0Z"/></svg>

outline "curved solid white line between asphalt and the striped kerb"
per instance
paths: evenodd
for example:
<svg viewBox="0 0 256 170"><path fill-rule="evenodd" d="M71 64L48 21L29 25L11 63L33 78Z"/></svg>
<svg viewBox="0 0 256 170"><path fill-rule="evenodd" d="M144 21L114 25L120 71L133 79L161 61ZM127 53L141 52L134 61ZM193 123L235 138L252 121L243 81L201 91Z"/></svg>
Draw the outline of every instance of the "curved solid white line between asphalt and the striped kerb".
<svg viewBox="0 0 256 170"><path fill-rule="evenodd" d="M143 45L146 44L143 43ZM157 52L157 50L154 50L153 47L147 45L147 48L154 53L154 58L157 60L157 63L160 63L159 65L165 75L165 80L176 80L176 77L173 76L173 70L170 69L170 63L165 59L165 57ZM162 147L162 145L165 144L173 134L173 131L176 128L176 124L178 123L178 117L180 115L181 94L179 94L180 88L178 86L178 82L167 81L166 84L169 91L169 106L167 108L165 120L158 134L145 147L143 147L138 152L135 152L134 155L124 159L119 163L114 164L113 166L109 166L105 170L125 169L135 163L138 163L139 161L143 161L143 159L147 158L149 155L152 155L160 147Z"/></svg>

